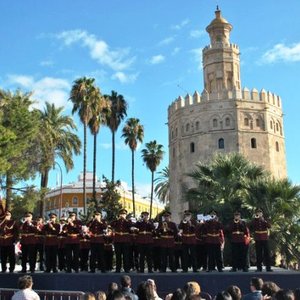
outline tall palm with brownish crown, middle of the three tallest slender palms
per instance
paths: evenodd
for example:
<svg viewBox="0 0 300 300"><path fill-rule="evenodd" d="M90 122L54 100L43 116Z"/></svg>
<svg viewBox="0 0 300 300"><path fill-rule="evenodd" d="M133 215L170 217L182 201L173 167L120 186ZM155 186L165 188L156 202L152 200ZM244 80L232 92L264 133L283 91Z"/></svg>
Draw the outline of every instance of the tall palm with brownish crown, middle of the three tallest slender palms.
<svg viewBox="0 0 300 300"><path fill-rule="evenodd" d="M106 123L106 118L110 113L110 103L107 98L101 95L99 88L96 88L91 95L92 118L89 121L89 128L94 136L93 153L93 200L96 200L96 164L97 164L97 135L100 126Z"/></svg>

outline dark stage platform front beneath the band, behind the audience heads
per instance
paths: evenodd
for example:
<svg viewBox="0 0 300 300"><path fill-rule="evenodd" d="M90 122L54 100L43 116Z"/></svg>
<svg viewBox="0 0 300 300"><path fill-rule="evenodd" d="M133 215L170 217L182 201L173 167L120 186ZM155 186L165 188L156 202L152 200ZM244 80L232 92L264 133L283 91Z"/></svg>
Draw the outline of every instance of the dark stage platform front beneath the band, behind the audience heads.
<svg viewBox="0 0 300 300"><path fill-rule="evenodd" d="M98 290L107 290L110 282L120 283L121 276L125 273L41 273L32 274L34 280L34 289L37 290L66 290L95 292ZM300 272L288 271L275 268L273 272L229 272L224 270L219 272L198 272L198 273L151 273L141 274L136 272L129 273L132 279L132 287L136 290L141 281L148 278L155 280L158 294L163 297L176 288L183 287L187 281L197 281L203 292L208 292L214 296L218 291L226 289L229 285L237 285L241 288L243 294L249 292L249 283L251 277L261 277L264 281L274 281L281 288L295 289L300 287ZM17 288L20 273L0 273L0 288Z"/></svg>

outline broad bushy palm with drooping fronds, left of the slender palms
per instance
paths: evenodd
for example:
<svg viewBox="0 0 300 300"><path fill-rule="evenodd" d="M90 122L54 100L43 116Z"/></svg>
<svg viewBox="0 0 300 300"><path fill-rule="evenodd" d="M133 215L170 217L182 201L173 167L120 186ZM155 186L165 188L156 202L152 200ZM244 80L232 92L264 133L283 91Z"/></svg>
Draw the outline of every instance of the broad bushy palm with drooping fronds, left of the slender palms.
<svg viewBox="0 0 300 300"><path fill-rule="evenodd" d="M80 139L72 132L77 130L77 127L71 117L62 114L63 110L63 107L55 107L54 104L46 102L44 111L40 112L38 140L42 191L48 186L49 171L54 167L56 158L61 158L66 170L69 171L74 167L73 154L80 154ZM40 215L42 212L43 201L40 205Z"/></svg>

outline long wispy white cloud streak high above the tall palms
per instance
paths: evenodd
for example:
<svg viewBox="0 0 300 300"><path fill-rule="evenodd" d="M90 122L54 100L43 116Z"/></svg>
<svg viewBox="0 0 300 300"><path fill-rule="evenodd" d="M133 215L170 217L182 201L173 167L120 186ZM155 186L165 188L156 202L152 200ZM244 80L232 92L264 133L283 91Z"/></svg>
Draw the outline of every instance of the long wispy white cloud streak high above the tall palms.
<svg viewBox="0 0 300 300"><path fill-rule="evenodd" d="M94 34L90 34L84 30L63 31L57 34L56 37L62 40L66 46L78 43L82 47L88 48L92 59L114 71L126 70L135 61L135 57L130 56L129 48L112 50L105 41L98 39Z"/></svg>

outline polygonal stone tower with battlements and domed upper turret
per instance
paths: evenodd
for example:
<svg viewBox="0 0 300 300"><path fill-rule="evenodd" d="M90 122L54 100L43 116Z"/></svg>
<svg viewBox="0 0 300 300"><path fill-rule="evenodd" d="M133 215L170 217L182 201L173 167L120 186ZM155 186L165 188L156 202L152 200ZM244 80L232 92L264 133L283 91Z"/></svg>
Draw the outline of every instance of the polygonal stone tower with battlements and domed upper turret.
<svg viewBox="0 0 300 300"><path fill-rule="evenodd" d="M275 178L285 178L283 114L279 96L241 88L239 47L230 43L232 25L217 8L206 27L210 45L202 51L204 89L179 96L168 109L170 208L178 221L186 176L198 161L216 152L239 152Z"/></svg>

